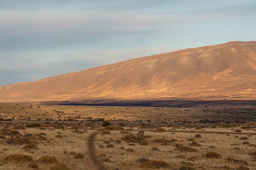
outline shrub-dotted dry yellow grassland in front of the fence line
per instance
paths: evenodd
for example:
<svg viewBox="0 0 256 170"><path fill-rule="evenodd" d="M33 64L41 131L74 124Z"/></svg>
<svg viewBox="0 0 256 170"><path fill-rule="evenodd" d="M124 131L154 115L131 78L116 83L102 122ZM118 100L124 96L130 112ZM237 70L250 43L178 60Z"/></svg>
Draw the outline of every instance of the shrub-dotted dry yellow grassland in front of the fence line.
<svg viewBox="0 0 256 170"><path fill-rule="evenodd" d="M87 129L84 124L0 123L0 131L0 169L6 170L256 167L255 123L176 130L173 125L95 124Z"/></svg>

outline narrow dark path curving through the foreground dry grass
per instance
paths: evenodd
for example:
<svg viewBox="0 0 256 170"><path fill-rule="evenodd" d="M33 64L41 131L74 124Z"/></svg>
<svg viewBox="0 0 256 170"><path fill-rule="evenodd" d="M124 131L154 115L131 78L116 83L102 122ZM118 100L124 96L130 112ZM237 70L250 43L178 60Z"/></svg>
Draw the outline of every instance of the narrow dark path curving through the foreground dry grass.
<svg viewBox="0 0 256 170"><path fill-rule="evenodd" d="M104 167L103 163L101 162L101 160L98 159L98 157L96 156L96 149L95 149L95 144L94 144L94 140L95 140L95 136L99 133L100 131L97 132L93 132L90 136L89 136L89 140L88 140L88 151L89 151L89 155L91 157L91 160L93 161L93 163L95 164L95 167L97 167L97 169L99 170L107 170L107 168Z"/></svg>

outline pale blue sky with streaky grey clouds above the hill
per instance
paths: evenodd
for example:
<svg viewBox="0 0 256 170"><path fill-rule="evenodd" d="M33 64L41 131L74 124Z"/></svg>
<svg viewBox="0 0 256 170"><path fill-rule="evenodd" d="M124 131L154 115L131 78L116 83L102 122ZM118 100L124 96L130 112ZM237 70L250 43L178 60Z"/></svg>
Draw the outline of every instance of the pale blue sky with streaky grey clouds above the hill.
<svg viewBox="0 0 256 170"><path fill-rule="evenodd" d="M0 86L256 40L255 0L0 0Z"/></svg>

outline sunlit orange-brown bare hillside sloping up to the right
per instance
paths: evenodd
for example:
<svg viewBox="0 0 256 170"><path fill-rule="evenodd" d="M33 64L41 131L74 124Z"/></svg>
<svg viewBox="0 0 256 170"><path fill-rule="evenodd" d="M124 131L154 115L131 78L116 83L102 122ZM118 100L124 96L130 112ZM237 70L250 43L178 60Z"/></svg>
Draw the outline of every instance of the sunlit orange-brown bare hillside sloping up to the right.
<svg viewBox="0 0 256 170"><path fill-rule="evenodd" d="M256 99L256 42L228 42L0 87L1 102Z"/></svg>

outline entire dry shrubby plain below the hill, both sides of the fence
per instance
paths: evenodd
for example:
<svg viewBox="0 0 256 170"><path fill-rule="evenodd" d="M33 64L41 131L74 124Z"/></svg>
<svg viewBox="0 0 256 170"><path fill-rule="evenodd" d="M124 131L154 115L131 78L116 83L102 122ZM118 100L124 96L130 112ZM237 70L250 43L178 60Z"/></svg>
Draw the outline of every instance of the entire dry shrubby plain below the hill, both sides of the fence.
<svg viewBox="0 0 256 170"><path fill-rule="evenodd" d="M174 128L173 124L109 125L109 122L104 122L87 126L72 122L2 121L0 169L253 170L256 167L254 109L2 103L0 114L2 119L14 117L15 120L104 118L199 121L207 118L233 122L184 124Z"/></svg>

